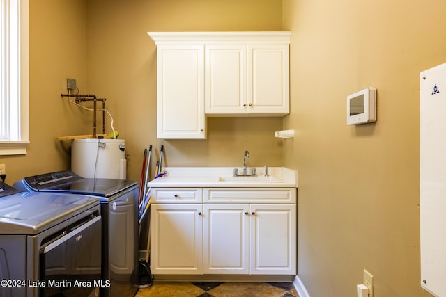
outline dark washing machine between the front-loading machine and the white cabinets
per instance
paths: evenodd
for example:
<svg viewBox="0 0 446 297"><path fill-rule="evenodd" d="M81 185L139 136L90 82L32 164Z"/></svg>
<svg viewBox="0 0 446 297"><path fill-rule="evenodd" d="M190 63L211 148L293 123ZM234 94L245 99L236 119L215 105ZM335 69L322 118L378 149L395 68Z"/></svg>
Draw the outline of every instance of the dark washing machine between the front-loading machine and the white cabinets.
<svg viewBox="0 0 446 297"><path fill-rule="evenodd" d="M16 182L20 191L69 193L100 199L102 215L101 296L133 296L139 284L137 182L126 179L84 178L70 170L25 177Z"/></svg>

